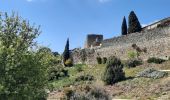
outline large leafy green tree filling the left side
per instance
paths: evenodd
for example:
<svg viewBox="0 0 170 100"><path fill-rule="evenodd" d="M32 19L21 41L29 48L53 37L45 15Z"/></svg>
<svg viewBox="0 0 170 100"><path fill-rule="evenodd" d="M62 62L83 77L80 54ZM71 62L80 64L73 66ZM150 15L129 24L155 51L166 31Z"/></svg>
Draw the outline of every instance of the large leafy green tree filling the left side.
<svg viewBox="0 0 170 100"><path fill-rule="evenodd" d="M0 15L0 99L45 99L47 64L33 52L39 28L14 13Z"/></svg>

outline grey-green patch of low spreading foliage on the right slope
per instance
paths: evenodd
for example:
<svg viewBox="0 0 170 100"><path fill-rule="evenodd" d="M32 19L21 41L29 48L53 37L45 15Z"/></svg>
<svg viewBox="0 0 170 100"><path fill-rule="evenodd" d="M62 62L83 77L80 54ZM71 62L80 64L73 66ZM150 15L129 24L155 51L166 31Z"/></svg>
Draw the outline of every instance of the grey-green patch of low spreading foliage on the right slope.
<svg viewBox="0 0 170 100"><path fill-rule="evenodd" d="M144 71L138 73L137 77L158 79L158 78L165 77L167 75L168 75L168 73L166 73L166 72L157 71L154 68L147 68Z"/></svg>

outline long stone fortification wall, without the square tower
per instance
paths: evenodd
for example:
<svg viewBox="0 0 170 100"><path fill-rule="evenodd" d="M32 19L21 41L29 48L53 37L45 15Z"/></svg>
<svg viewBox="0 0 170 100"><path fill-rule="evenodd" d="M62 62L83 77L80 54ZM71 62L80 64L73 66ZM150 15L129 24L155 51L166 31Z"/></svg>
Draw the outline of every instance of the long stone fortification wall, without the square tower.
<svg viewBox="0 0 170 100"><path fill-rule="evenodd" d="M146 52L140 54L143 60L149 57L167 59L170 57L170 26L107 39L102 42L100 48L73 51L72 57L74 63L84 62L86 64L96 64L98 56L117 56L122 60L127 60L128 52L134 51L132 44L136 44L141 49L146 48Z"/></svg>

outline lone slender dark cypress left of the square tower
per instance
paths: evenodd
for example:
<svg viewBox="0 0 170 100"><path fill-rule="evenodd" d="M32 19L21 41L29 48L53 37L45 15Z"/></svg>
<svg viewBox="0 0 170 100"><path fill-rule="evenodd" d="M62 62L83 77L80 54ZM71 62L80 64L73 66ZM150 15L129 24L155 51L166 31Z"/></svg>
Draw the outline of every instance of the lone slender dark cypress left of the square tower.
<svg viewBox="0 0 170 100"><path fill-rule="evenodd" d="M65 65L65 62L70 58L70 52L69 52L69 38L67 39L65 50L63 52L63 63ZM66 66L66 65L65 65Z"/></svg>

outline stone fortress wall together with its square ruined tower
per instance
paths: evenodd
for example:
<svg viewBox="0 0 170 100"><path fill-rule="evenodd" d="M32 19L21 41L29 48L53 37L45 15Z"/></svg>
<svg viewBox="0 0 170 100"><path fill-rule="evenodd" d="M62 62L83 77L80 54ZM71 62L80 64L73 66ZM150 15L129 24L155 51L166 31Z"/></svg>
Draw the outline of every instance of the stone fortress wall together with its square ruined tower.
<svg viewBox="0 0 170 100"><path fill-rule="evenodd" d="M128 52L141 51L140 58L170 57L170 17L148 25L141 32L103 40L103 35L88 35L84 49L74 49L74 63L96 64L96 57L117 56L128 59Z"/></svg>

